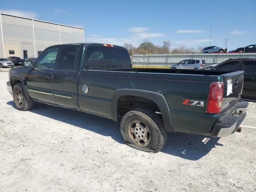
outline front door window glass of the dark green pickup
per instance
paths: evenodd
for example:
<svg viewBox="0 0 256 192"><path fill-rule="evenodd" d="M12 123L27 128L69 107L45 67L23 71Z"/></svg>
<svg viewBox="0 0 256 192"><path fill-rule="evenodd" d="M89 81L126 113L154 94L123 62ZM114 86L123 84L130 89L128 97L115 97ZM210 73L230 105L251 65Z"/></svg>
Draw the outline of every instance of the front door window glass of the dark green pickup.
<svg viewBox="0 0 256 192"><path fill-rule="evenodd" d="M54 69L59 48L50 48L40 54L35 63L35 68Z"/></svg>

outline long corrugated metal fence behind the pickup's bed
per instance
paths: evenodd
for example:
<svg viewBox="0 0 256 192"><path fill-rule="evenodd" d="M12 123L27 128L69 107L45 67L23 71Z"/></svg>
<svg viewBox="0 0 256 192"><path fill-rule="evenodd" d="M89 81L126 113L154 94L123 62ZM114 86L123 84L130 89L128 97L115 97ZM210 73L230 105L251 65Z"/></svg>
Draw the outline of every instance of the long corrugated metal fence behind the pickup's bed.
<svg viewBox="0 0 256 192"><path fill-rule="evenodd" d="M133 55L133 65L172 66L185 59L206 60L207 64L218 64L230 58L256 57L256 53L224 53L224 54L158 54Z"/></svg>

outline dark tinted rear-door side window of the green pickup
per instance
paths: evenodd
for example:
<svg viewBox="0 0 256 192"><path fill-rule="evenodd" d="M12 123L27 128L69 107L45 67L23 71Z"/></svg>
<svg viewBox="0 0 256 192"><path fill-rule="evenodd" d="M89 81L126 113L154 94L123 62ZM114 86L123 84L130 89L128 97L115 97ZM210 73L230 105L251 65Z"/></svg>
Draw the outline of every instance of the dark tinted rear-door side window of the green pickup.
<svg viewBox="0 0 256 192"><path fill-rule="evenodd" d="M58 69L60 70L72 70L76 58L75 46L64 47L60 52L60 58L58 61Z"/></svg>

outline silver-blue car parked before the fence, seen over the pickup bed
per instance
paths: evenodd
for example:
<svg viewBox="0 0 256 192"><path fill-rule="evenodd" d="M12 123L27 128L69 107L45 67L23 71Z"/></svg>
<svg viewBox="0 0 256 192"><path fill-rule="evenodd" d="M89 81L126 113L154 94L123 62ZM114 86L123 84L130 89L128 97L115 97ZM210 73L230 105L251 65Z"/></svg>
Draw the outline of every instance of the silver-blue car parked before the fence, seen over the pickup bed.
<svg viewBox="0 0 256 192"><path fill-rule="evenodd" d="M170 68L172 69L200 69L206 66L205 60L197 60L197 59L186 59L174 64Z"/></svg>

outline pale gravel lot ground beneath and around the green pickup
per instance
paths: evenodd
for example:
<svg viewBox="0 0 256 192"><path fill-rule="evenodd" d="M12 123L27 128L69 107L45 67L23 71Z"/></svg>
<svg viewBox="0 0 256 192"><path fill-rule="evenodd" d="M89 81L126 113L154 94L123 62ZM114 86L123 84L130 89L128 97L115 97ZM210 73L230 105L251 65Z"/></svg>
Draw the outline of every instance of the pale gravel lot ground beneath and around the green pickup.
<svg viewBox="0 0 256 192"><path fill-rule="evenodd" d="M8 70L6 70L8 71ZM157 154L130 148L119 124L45 104L16 110L0 72L0 191L255 192L256 129L224 138L170 133ZM242 123L256 126L256 103Z"/></svg>

